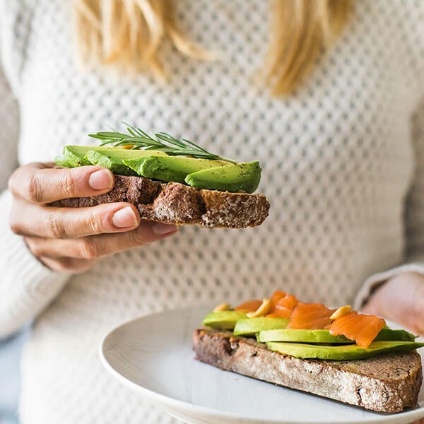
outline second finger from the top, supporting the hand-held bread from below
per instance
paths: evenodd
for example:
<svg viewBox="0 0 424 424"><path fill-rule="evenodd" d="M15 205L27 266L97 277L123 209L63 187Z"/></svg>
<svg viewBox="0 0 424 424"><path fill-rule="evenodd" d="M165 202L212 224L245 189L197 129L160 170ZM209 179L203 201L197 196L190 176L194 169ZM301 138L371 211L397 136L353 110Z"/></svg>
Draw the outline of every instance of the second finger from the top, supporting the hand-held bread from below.
<svg viewBox="0 0 424 424"><path fill-rule="evenodd" d="M129 231L139 224L136 207L128 203L101 204L90 208L54 208L16 199L10 219L11 229L18 235L53 239Z"/></svg>

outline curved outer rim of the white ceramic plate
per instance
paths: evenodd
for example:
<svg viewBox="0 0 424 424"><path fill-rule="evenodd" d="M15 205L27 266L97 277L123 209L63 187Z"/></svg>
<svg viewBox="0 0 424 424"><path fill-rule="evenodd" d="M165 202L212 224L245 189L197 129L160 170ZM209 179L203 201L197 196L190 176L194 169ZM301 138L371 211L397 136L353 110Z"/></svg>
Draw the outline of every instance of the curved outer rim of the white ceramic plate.
<svg viewBox="0 0 424 424"><path fill-rule="evenodd" d="M160 393L153 391L151 389L147 389L146 387L142 387L139 384L132 382L130 379L124 377L124 375L120 374L117 370L115 370L114 367L112 367L112 365L107 361L107 358L105 357L105 354L104 354L104 348L105 348L105 343L107 341L107 338L112 336L112 334L114 334L115 332L121 330L124 326L127 326L129 324L134 324L134 322L142 321L143 319L150 318L150 317L153 317L155 315L161 315L161 314L165 314L165 313L169 313L169 312L182 313L182 312L188 311L188 310L200 310L203 307L204 308L210 307L210 304L196 305L196 306L192 306L192 307L182 307L182 308L163 310L163 311L159 311L159 312L153 312L151 314L146 314L146 315L143 315L141 317L129 319L125 322L122 322L118 326L115 326L112 330L107 331L105 333L105 335L102 336L99 347L98 347L98 354L100 356L100 362L102 363L103 367L105 367L105 369L108 372L110 372L110 374L113 377L118 379L119 382L124 384L124 386L131 386L132 389L135 389L135 391L139 392L140 394L143 394L143 397L145 399L147 399L151 403L155 404L156 406L161 406L161 407L165 408L165 406L167 404L170 404L171 407L175 406L176 408L178 408L178 411L190 411L190 412L199 411L199 413L201 413L203 416L211 416L213 418L231 418L233 420L239 419L239 420L243 420L243 422L245 422L245 423L252 423L252 424L258 424L258 423L262 424L262 423L264 423L264 420L261 419L261 418L252 418L252 417L247 417L247 416L240 416L237 413L222 411L220 409L211 408L211 407L208 407L208 406L199 406L199 405L195 405L195 404L190 404L189 402L181 401L179 399L175 399L175 398L172 398L170 396L166 396L165 394L160 394ZM199 328L199 327L196 327L196 328ZM424 371L423 363L422 363L421 366L422 366L423 371ZM424 380L421 384L424 384ZM286 389L287 389L287 387L286 387ZM300 390L298 390L298 392L302 393L302 391L300 391ZM307 393L307 392L305 392L305 393ZM322 397L322 396L319 396L319 397ZM325 398L323 398L323 399L325 399ZM343 404L343 402L341 402L341 404ZM349 404L345 404L345 405L346 406L353 406L353 405L349 405ZM355 407L355 406L353 406L353 407ZM165 408L165 410L167 410L167 408ZM368 411L368 410L365 410L365 411ZM169 413L168 411L166 411L166 412ZM375 412L375 411L371 411L371 412ZM398 418L399 418L399 420L398 420ZM358 421L358 420L345 421L345 422L343 422L343 424L359 424L359 423L380 424L380 423L383 422L382 421L383 419L384 419L384 423L396 424L396 422L404 422L403 418L408 418L411 421L424 418L424 406L420 406L420 408L418 408L417 410L406 411L406 412L401 412L401 413L393 413L393 414L388 414L388 415L382 415L381 418L375 418L375 419L371 418L370 420L365 420L365 421ZM267 419L266 422L270 423L270 424L301 424L300 421L293 421L293 420L289 421L289 420L280 420L280 419L278 419L278 420ZM328 421L307 421L307 422L302 421L302 424L329 424L329 422Z"/></svg>

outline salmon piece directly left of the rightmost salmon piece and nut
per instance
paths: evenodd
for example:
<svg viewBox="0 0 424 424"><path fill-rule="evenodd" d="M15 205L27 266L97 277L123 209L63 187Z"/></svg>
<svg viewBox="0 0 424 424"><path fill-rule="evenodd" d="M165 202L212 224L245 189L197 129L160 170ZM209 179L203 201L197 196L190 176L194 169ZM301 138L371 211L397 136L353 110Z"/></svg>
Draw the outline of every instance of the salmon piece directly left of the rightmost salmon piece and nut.
<svg viewBox="0 0 424 424"><path fill-rule="evenodd" d="M329 309L322 303L302 303L294 307L290 314L290 321L287 324L288 329L307 329L318 330L325 329L331 324L331 314L334 310Z"/></svg>

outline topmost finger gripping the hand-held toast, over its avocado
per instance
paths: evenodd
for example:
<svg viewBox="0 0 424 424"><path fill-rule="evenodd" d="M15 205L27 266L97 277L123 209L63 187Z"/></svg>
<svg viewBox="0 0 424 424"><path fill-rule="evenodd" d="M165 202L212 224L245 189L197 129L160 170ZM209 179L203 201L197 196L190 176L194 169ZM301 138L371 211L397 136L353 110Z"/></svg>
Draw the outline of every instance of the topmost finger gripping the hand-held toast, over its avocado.
<svg viewBox="0 0 424 424"><path fill-rule="evenodd" d="M88 197L114 187L110 170L98 166L52 168L51 164L30 163L18 167L8 187L15 196L35 204L49 204L69 197Z"/></svg>

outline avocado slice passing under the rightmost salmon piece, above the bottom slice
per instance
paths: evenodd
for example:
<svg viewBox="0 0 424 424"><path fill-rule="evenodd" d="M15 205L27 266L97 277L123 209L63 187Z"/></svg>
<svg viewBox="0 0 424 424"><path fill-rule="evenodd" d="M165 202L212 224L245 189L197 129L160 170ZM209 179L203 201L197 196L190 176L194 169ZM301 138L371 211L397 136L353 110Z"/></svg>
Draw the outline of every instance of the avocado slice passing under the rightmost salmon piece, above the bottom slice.
<svg viewBox="0 0 424 424"><path fill-rule="evenodd" d="M238 323L237 323L238 324ZM414 341L416 336L405 330L382 329L374 341ZM355 343L345 336L332 336L329 330L270 329L261 331L257 341L296 341L300 343Z"/></svg>

